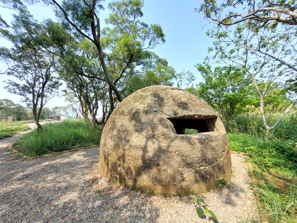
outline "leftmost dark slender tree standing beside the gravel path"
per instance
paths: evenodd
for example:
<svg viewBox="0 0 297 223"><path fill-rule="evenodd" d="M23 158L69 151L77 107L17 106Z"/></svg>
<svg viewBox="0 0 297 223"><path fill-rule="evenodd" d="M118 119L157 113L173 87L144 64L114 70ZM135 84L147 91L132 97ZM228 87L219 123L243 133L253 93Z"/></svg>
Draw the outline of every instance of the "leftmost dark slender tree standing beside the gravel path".
<svg viewBox="0 0 297 223"><path fill-rule="evenodd" d="M10 54L1 55L13 61L6 73L22 83L7 80L5 88L10 93L22 96L23 101L32 106L33 121L37 130L42 131L39 123L42 108L58 94L57 89L61 86L53 76L56 55L52 46L48 45L46 25L34 20L28 11L20 9L19 15L14 16L12 33L1 33L14 44L9 50Z"/></svg>

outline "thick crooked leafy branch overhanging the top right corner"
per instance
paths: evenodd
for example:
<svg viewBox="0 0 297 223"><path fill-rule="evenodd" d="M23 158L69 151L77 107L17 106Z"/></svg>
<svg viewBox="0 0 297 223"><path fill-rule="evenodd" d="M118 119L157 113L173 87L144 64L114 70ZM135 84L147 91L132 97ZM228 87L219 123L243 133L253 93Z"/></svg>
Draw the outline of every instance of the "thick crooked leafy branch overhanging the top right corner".
<svg viewBox="0 0 297 223"><path fill-rule="evenodd" d="M222 4L217 4L216 0L204 0L199 10L218 25L233 25L254 20L259 26L268 21L296 26L296 8L297 3L291 0L227 0Z"/></svg>

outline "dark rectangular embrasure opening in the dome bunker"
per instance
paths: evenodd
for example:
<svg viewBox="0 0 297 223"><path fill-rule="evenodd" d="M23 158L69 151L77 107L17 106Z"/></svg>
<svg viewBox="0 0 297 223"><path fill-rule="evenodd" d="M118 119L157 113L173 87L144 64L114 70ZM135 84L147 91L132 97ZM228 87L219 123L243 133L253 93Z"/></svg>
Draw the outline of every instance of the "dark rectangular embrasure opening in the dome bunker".
<svg viewBox="0 0 297 223"><path fill-rule="evenodd" d="M185 129L196 129L198 133L214 131L208 128L208 123L214 121L213 118L206 119L185 119L185 118L168 118L173 124L176 134L185 134ZM213 123L213 122L212 122Z"/></svg>

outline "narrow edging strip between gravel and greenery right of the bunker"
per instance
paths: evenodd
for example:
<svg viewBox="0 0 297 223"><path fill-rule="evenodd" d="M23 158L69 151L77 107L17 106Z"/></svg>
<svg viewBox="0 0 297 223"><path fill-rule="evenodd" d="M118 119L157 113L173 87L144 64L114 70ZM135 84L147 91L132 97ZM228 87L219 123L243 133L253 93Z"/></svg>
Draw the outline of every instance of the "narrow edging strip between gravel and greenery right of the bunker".
<svg viewBox="0 0 297 223"><path fill-rule="evenodd" d="M238 154L238 155L244 155L247 157L247 159L249 160L249 156L247 155L247 153L241 153L241 152L236 152L236 151L231 151L232 154ZM253 172L253 165L251 164L250 161L248 161L248 167L249 167L249 171L252 173ZM254 194L256 196L256 201L257 201L257 208L258 208L258 211L259 211L259 215L260 215L260 218L261 218L261 222L262 223L269 223L268 222L268 219L266 218L266 216L268 215L266 213L266 211L262 208L263 207L263 203L259 200L259 196L258 196L258 192L257 192L257 188L256 188L256 179L254 177L254 175L252 174L249 174L250 177L252 178L252 181L253 181L253 191L254 191Z"/></svg>

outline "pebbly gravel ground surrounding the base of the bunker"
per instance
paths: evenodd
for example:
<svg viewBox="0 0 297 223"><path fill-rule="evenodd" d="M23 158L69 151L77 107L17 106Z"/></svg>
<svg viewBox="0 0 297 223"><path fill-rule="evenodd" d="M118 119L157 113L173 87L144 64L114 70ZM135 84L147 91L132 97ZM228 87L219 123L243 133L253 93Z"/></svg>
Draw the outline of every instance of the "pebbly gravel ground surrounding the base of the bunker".
<svg viewBox="0 0 297 223"><path fill-rule="evenodd" d="M98 172L99 147L15 160L9 145L20 136L0 140L0 222L214 222L210 215L199 218L189 197L150 196L109 183ZM234 187L200 196L219 222L246 222L258 215L255 195L244 157L231 158Z"/></svg>

